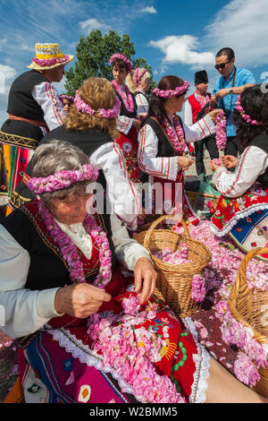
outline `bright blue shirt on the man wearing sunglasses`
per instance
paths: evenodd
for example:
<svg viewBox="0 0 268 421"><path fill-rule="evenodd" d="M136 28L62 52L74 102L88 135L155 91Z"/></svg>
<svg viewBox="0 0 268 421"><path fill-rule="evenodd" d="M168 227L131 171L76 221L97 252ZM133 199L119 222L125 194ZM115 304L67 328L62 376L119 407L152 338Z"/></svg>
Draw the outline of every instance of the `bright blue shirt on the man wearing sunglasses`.
<svg viewBox="0 0 268 421"><path fill-rule="evenodd" d="M213 95L223 88L232 88L233 77L235 73L235 68L230 74L230 78L226 81L223 76L221 76L218 81L215 83ZM247 83L255 83L255 77L247 69L237 69L236 79L234 86L242 86ZM230 115L227 117L227 136L236 135L236 126L232 124L233 110L236 107L235 103L237 102L238 95L226 95L225 97L219 99L218 107L223 108L227 113L230 110Z"/></svg>

